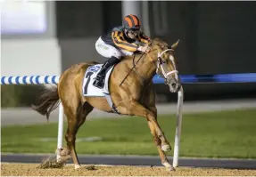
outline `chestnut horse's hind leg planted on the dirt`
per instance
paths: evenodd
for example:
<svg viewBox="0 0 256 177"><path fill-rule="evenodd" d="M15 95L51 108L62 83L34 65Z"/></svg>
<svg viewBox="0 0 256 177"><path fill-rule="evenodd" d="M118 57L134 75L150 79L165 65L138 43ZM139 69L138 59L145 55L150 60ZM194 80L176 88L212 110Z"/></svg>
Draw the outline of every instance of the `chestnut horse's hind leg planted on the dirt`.
<svg viewBox="0 0 256 177"><path fill-rule="evenodd" d="M81 125L86 121L87 115L94 109L87 101L84 103L78 103L77 110L74 107L66 108L65 114L68 117L68 129L65 134L67 141L67 147L70 149L70 153L75 165L75 169L80 167L78 162L78 156L76 152L76 134Z"/></svg>

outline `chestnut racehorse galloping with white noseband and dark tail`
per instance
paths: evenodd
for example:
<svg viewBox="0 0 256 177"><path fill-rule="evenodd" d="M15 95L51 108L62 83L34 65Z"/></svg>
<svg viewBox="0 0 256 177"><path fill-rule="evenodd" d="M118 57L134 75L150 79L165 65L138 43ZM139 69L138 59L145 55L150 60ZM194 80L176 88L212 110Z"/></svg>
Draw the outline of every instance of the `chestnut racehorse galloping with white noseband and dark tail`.
<svg viewBox="0 0 256 177"><path fill-rule="evenodd" d="M114 66L109 77L109 90L111 100L120 115L145 117L161 157L161 164L168 171L173 171L175 168L169 164L164 153L171 150L171 146L157 121L153 76L158 74L163 77L165 84L169 85L169 91L178 93L181 88L175 60L178 42L169 46L160 38L153 38L149 46L150 52L126 56ZM95 64L99 63L89 61L67 68L60 76L59 83L52 88L46 88L38 97L39 104L32 105L32 109L46 116L48 120L50 112L62 101L68 120L65 133L68 150L61 151L60 154L70 155L75 169L81 167L75 148L76 134L86 121L87 115L94 108L114 113L104 97L86 97L82 94L82 81L87 68Z"/></svg>

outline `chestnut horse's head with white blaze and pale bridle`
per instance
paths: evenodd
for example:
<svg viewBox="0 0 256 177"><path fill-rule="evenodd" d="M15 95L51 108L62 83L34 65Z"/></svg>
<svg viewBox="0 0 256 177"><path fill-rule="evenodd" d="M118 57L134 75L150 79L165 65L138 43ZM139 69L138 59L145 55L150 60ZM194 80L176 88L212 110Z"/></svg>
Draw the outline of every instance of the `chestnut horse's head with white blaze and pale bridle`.
<svg viewBox="0 0 256 177"><path fill-rule="evenodd" d="M177 93L180 89L180 80L174 50L178 46L178 42L169 47L161 39L153 39L151 45L152 52L149 54L157 62L156 73L165 78L165 84L169 85L170 92Z"/></svg>

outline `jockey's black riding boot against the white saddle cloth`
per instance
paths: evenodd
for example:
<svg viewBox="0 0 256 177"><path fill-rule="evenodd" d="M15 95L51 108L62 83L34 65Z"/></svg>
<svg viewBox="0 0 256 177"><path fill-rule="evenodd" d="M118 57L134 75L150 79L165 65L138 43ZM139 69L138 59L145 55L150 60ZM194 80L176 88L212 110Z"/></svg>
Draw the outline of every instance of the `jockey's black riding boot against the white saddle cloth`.
<svg viewBox="0 0 256 177"><path fill-rule="evenodd" d="M101 70L98 72L97 76L95 77L95 81L94 81L94 85L100 89L103 88L104 86L104 77L107 73L107 71L109 70L109 68L111 68L114 64L118 63L120 60L118 58L115 57L111 57L109 60L107 60L106 62L104 62L103 67L101 68Z"/></svg>

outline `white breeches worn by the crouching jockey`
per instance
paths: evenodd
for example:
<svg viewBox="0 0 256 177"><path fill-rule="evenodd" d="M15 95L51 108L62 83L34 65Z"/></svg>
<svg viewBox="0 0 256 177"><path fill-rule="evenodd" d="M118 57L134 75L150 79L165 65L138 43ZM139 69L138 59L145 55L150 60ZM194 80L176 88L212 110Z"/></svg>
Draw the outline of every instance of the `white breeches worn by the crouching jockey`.
<svg viewBox="0 0 256 177"><path fill-rule="evenodd" d="M105 44L101 37L96 41L95 48L98 53L103 55L105 58L111 58L112 56L120 59L122 56L131 56L133 52L128 52L122 49L117 49L110 44Z"/></svg>

